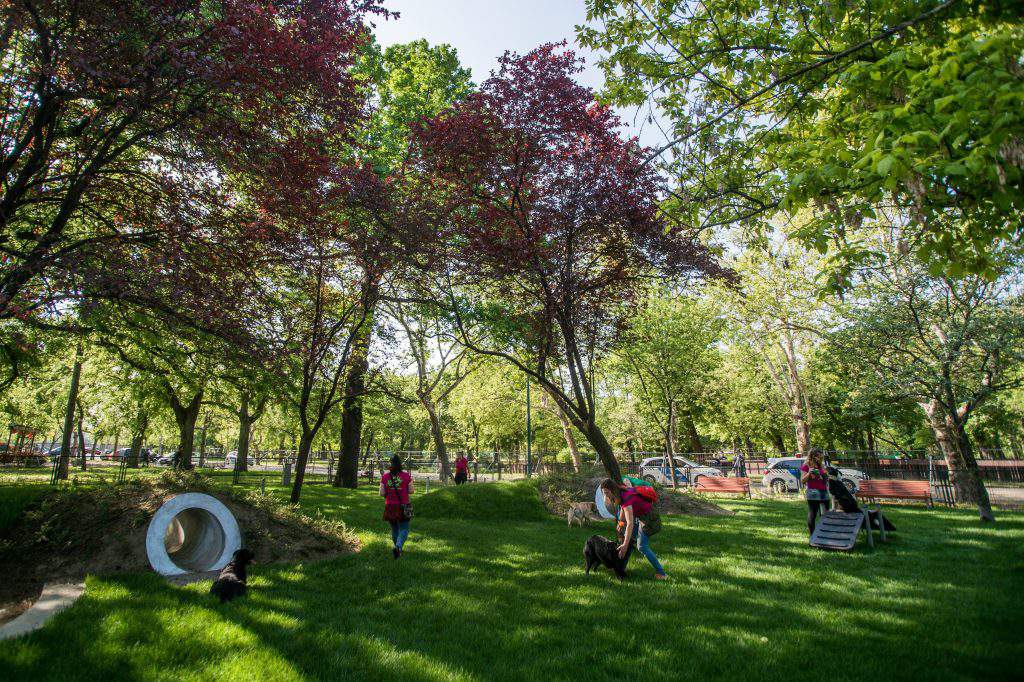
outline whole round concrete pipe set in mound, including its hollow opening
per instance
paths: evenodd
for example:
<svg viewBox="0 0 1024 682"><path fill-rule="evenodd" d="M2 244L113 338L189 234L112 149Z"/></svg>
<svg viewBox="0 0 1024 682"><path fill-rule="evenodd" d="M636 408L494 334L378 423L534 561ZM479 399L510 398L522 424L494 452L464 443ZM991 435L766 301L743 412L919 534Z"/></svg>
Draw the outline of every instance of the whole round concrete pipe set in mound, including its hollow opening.
<svg viewBox="0 0 1024 682"><path fill-rule="evenodd" d="M184 493L165 502L145 535L150 565L164 576L220 570L241 547L234 515L202 493Z"/></svg>

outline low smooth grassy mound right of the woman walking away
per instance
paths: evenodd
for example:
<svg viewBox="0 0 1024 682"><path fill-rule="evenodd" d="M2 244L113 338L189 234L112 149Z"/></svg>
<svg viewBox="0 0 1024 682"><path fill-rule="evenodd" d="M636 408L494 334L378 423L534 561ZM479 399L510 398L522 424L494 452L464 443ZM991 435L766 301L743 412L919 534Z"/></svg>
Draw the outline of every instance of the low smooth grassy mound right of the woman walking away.
<svg viewBox="0 0 1024 682"><path fill-rule="evenodd" d="M537 484L531 481L451 485L417 496L414 507L420 518L480 521L543 521L549 518L541 504Z"/></svg>

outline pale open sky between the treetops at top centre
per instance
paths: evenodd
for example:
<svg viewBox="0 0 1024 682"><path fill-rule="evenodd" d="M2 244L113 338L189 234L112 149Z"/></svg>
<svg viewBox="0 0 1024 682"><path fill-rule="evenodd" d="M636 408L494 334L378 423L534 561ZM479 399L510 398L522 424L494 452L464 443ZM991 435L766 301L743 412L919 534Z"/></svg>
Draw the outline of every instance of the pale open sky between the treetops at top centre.
<svg viewBox="0 0 1024 682"><path fill-rule="evenodd" d="M542 43L565 39L587 59L580 82L594 89L603 84L595 55L575 44L575 26L587 19L584 0L385 0L384 4L401 16L377 23L377 40L382 45L418 38L447 43L473 71L476 83L497 68L505 50L528 52ZM620 116L629 124L634 112L620 111ZM631 127L629 134L636 133ZM662 139L656 129L641 134L646 144L655 145Z"/></svg>

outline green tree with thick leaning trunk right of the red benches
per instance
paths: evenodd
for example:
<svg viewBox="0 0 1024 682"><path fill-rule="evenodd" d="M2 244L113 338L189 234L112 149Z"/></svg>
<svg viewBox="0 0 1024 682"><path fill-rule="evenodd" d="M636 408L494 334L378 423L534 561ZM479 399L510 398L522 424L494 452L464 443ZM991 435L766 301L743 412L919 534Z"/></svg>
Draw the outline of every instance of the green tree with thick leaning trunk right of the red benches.
<svg viewBox="0 0 1024 682"><path fill-rule="evenodd" d="M1024 311L1019 270L995 281L932 275L899 252L903 224L879 230L884 267L865 275L850 325L835 338L870 358L877 382L924 413L962 502L994 518L968 424L1000 391L1021 385Z"/></svg>

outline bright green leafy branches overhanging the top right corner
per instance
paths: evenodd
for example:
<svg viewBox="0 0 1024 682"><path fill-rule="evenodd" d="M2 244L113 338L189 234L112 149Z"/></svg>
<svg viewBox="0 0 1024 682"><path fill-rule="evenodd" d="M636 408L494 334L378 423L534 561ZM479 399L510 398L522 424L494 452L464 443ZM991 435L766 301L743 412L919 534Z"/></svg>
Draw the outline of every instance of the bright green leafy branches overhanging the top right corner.
<svg viewBox="0 0 1024 682"><path fill-rule="evenodd" d="M1018 3L588 0L581 41L605 96L652 100L685 225L836 247L833 286L879 254L860 226L910 212L932 271L994 276L1021 237L1024 30Z"/></svg>

